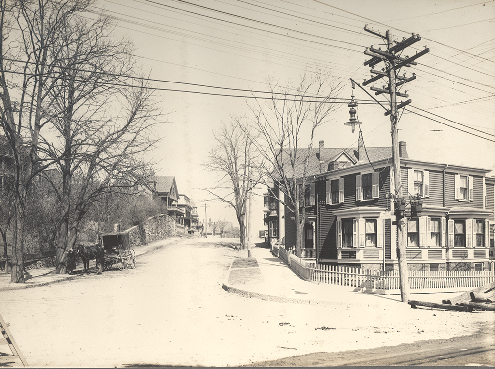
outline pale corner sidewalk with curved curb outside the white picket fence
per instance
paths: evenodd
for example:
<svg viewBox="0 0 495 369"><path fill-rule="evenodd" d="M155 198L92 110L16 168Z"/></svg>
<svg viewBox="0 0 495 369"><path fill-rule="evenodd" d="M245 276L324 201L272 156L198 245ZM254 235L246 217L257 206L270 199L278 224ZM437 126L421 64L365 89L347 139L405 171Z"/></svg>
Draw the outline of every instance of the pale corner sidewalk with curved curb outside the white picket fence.
<svg viewBox="0 0 495 369"><path fill-rule="evenodd" d="M313 283L300 278L281 259L272 255L268 248L254 247L252 258L234 259L224 280L223 289L247 298L260 298L276 302L292 302L313 305L369 304L401 302L398 295L362 293L361 289L349 286ZM442 299L459 295L412 294L410 299L441 302Z"/></svg>

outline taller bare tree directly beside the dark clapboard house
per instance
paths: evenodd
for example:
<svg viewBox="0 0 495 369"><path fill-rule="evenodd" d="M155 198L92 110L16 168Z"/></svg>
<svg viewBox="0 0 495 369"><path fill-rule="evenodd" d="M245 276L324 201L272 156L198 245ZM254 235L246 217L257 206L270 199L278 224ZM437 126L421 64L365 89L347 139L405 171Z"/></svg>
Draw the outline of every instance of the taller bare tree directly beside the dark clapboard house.
<svg viewBox="0 0 495 369"><path fill-rule="evenodd" d="M270 89L271 99L255 99L255 104L250 105L254 119L246 132L256 135L252 141L265 160L264 184L271 196L294 216L299 255L306 215L304 196L315 174L309 161L316 154L313 139L316 129L328 122L336 108L333 98L340 87L332 85L329 76L316 71L306 72L293 88L270 83Z"/></svg>

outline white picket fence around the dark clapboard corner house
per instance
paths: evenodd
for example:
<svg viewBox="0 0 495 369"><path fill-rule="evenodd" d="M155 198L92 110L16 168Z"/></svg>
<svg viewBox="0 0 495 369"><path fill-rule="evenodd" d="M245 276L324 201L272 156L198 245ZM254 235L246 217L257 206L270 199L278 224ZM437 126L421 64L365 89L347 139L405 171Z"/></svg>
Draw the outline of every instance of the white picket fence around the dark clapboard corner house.
<svg viewBox="0 0 495 369"><path fill-rule="evenodd" d="M348 266L317 264L303 260L282 247L274 250L289 267L307 281L356 287L367 293L400 294L398 271L376 271ZM409 271L410 293L464 292L495 281L495 272Z"/></svg>

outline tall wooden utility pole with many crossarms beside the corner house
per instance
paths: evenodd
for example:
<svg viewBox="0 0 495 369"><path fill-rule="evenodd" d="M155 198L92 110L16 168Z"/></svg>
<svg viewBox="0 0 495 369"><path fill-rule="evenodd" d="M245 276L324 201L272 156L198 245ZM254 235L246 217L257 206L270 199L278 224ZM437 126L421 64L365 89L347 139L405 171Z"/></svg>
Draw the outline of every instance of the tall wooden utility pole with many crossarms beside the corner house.
<svg viewBox="0 0 495 369"><path fill-rule="evenodd" d="M364 30L380 37L382 40L387 41L387 51L382 51L380 49L375 49L370 47L366 49L364 53L372 58L365 61L364 65L369 65L371 73L376 74L376 76L371 76L371 79L363 82L363 85L370 84L372 82L380 80L382 77L388 77L389 85L388 88L376 88L371 87L371 90L375 91L375 95L380 95L382 93L390 94L390 110L385 112L385 115L390 114L391 123L391 135L392 135L392 161L394 165L394 194L391 197L394 199L394 213L396 215L396 221L393 224L397 227L397 254L399 262L399 278L400 278L400 295L402 302L407 302L409 298L409 272L407 269L407 257L406 257L406 245L407 245L407 218L405 217L405 205L406 201L402 193L402 179L401 179L401 169L400 169L400 153L399 153L399 140L398 140L398 110L403 108L407 104L411 103L411 99L401 102L397 105L397 96L408 97L407 91L400 93L397 91L397 87L416 79L416 75L413 73L412 77L398 76L398 72L402 67L410 67L411 65L417 65L414 61L420 56L426 54L430 50L425 48L424 50L416 53L412 57L406 56L405 58L397 55L406 47L412 45L413 43L421 40L418 35L412 34L408 39L404 38L401 42L396 42L392 39L390 30L387 30L385 37L379 32L373 31L367 27ZM373 69L374 66L383 61L385 63L385 68L381 71ZM397 82L399 80L399 82ZM411 189L409 189L409 192Z"/></svg>

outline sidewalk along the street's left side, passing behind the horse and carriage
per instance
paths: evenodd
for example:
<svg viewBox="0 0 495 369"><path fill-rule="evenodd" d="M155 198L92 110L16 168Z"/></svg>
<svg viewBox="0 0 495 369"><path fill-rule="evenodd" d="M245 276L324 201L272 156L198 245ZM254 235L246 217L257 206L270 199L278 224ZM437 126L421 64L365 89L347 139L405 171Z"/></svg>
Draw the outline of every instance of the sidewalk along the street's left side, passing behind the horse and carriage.
<svg viewBox="0 0 495 369"><path fill-rule="evenodd" d="M150 243L148 245L136 247L134 249L134 252L136 253L136 258L138 258L138 256L140 255L157 250L165 245L168 245L173 242L178 242L180 240L182 240L182 238L180 237L171 237L165 240L160 240L157 242ZM91 272L95 271L94 261L90 262L90 265L91 265L90 271ZM78 275L83 272L84 272L83 263L80 260L77 262L76 269L72 272L72 274L55 274L55 267L28 269L25 273L24 283L11 283L10 273L2 272L0 273L0 291L11 291L16 289L39 287L39 286L49 285L52 283L68 281L71 279L78 278Z"/></svg>

